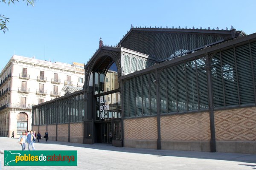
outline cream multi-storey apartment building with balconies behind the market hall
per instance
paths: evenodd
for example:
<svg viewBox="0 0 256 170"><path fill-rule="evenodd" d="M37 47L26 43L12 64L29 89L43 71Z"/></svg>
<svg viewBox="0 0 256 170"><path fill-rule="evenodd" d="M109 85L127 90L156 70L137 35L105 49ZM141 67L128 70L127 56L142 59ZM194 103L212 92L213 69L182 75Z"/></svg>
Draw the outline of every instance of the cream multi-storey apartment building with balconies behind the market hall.
<svg viewBox="0 0 256 170"><path fill-rule="evenodd" d="M65 86L84 85L84 65L14 55L0 73L0 136L31 130L32 106L63 96ZM78 88L78 89L79 89Z"/></svg>

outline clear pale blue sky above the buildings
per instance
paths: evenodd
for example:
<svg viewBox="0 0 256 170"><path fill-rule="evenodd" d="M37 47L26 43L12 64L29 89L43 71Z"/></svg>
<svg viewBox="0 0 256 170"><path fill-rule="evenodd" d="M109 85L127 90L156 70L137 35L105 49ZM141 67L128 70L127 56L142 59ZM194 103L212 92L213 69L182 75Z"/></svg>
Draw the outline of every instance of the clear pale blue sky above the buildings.
<svg viewBox="0 0 256 170"><path fill-rule="evenodd" d="M9 0L6 0L9 1ZM116 45L131 25L223 28L256 32L255 0L20 0L5 4L9 31L0 31L0 69L12 55L87 63L99 48Z"/></svg>

